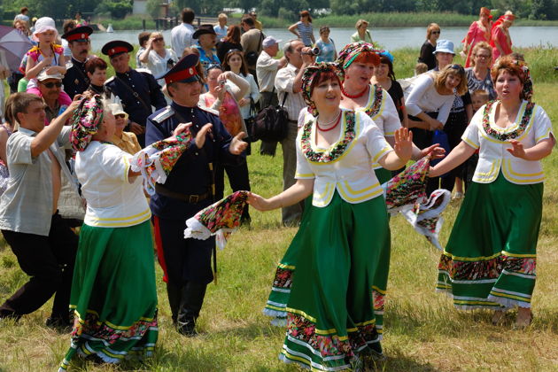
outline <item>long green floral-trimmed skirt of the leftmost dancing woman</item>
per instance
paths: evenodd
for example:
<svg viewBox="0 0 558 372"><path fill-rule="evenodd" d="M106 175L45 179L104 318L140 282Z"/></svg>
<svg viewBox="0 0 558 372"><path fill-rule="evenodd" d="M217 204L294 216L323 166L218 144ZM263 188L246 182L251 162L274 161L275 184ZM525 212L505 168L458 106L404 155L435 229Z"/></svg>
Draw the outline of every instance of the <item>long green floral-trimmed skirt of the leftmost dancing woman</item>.
<svg viewBox="0 0 558 372"><path fill-rule="evenodd" d="M70 307L76 353L105 362L151 355L159 329L150 221L127 228L81 227Z"/></svg>

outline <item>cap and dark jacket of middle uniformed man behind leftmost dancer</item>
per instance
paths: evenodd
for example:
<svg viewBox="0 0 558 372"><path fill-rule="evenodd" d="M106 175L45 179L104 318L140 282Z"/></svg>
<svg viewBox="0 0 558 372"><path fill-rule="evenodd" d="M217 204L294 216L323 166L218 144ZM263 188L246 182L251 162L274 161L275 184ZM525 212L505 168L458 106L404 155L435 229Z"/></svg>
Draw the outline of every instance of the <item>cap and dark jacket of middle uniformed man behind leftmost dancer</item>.
<svg viewBox="0 0 558 372"><path fill-rule="evenodd" d="M106 43L101 50L103 54L113 58L120 53L134 50L130 43L113 41ZM159 110L167 105L161 87L149 72L142 68L134 70L129 68L126 73L116 73L105 81L105 86L114 96L120 98L124 111L128 113L129 120L145 127L147 117L151 115L151 106ZM137 141L145 146L145 135L138 135Z"/></svg>

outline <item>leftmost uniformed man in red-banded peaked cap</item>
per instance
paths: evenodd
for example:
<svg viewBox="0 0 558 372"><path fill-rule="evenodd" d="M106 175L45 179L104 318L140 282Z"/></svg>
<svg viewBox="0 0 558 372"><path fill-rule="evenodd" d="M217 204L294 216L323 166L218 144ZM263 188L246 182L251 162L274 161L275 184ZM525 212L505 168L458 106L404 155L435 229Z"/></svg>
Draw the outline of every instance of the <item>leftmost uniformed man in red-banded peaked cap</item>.
<svg viewBox="0 0 558 372"><path fill-rule="evenodd" d="M93 33L93 28L89 26L75 27L66 34L63 39L68 42L68 47L72 51L72 58L66 63L66 74L62 82L64 90L74 99L76 94L83 93L89 87L89 78L85 72L85 63L92 56L89 56L91 43L89 35Z"/></svg>

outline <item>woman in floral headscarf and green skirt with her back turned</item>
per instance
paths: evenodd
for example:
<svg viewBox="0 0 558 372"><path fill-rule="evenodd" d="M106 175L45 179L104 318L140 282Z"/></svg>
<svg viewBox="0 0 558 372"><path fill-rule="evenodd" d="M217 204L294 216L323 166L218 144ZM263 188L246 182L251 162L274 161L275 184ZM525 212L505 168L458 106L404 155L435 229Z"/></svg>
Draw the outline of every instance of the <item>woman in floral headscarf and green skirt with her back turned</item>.
<svg viewBox="0 0 558 372"><path fill-rule="evenodd" d="M87 211L70 298L72 345L60 371L76 353L106 363L148 356L159 333L151 211L132 155L110 142L115 120L106 105L98 96L85 99L70 135Z"/></svg>

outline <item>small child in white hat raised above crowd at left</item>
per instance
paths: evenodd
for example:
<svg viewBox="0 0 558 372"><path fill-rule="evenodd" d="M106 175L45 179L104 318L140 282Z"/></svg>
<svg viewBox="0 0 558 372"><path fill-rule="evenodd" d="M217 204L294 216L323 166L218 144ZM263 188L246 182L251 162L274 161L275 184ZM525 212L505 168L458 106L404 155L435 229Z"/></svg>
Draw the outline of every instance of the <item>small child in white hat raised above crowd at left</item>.
<svg viewBox="0 0 558 372"><path fill-rule="evenodd" d="M66 58L62 45L54 43L57 39L58 31L54 25L54 19L43 17L37 19L35 23L35 33L33 37L39 42L38 45L27 51L27 66L25 77L27 83L27 93L40 96L37 87L36 77L46 69L47 74L66 74ZM72 99L64 90L60 91L60 96L65 101L72 102Z"/></svg>

